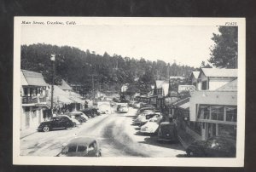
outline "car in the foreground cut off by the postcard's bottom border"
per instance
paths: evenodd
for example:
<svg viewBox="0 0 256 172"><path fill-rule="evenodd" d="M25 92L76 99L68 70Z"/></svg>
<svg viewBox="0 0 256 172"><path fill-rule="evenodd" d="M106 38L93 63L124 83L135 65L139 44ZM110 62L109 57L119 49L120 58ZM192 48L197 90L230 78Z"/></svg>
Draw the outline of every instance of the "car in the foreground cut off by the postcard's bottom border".
<svg viewBox="0 0 256 172"><path fill-rule="evenodd" d="M98 140L90 137L77 137L62 144L57 157L102 157Z"/></svg>

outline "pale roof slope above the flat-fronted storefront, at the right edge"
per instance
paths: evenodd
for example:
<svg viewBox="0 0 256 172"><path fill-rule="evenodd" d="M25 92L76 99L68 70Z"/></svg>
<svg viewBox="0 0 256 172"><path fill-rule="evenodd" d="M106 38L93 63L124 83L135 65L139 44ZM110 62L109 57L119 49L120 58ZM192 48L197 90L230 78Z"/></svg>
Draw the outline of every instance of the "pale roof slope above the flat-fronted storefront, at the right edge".
<svg viewBox="0 0 256 172"><path fill-rule="evenodd" d="M201 73L206 77L237 77L237 69L201 68Z"/></svg>

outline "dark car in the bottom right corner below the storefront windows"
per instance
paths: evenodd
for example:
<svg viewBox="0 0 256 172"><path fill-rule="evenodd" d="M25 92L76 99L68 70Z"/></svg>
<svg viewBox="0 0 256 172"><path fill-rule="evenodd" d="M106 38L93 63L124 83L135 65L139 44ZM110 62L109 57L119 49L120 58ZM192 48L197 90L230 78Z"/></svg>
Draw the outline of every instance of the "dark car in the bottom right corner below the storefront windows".
<svg viewBox="0 0 256 172"><path fill-rule="evenodd" d="M189 157L235 158L236 140L214 136L208 140L196 140L186 149Z"/></svg>

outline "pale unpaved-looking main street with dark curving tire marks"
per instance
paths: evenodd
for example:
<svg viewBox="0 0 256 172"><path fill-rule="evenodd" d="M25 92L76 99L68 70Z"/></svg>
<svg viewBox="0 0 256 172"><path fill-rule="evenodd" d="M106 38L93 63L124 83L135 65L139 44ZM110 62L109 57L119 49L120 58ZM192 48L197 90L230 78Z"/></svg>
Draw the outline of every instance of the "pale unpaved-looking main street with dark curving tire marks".
<svg viewBox="0 0 256 172"><path fill-rule="evenodd" d="M102 114L73 129L26 136L20 140L20 155L55 156L61 152L63 143L76 136L90 136L99 140L102 157L162 158L185 154L179 143L159 143L156 135L138 134L139 127L131 125L136 111L130 107L128 113Z"/></svg>

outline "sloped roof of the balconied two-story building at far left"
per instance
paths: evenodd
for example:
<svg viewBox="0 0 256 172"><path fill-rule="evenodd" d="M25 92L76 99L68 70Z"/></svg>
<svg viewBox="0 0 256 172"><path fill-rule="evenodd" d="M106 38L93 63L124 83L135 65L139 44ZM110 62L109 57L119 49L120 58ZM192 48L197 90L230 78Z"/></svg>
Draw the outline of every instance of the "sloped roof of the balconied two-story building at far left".
<svg viewBox="0 0 256 172"><path fill-rule="evenodd" d="M48 84L45 83L44 77L42 73L38 72L31 72L26 70L21 70L23 73L27 85L35 85L35 86L47 86Z"/></svg>

